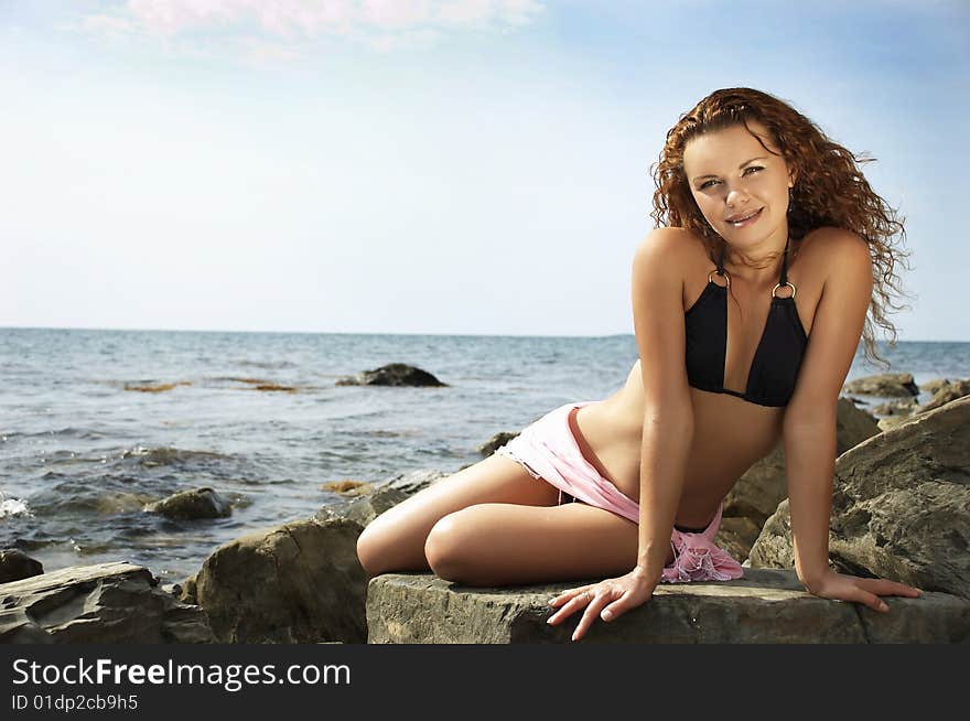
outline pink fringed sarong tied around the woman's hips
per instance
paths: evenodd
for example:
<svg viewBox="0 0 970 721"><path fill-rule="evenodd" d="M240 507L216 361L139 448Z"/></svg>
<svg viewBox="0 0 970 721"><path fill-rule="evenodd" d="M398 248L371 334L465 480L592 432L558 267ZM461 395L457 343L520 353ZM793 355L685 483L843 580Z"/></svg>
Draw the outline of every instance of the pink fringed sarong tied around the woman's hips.
<svg viewBox="0 0 970 721"><path fill-rule="evenodd" d="M496 453L521 464L534 478L543 480L585 504L604 508L634 523L639 523L639 504L619 492L608 478L604 478L583 455L569 426L573 408L582 408L597 401L585 400L565 403L549 411L536 422L522 429ZM714 545L714 535L721 526L718 506L713 520L702 531L679 530L676 526L670 536L673 562L664 569L660 578L667 583L688 581L730 581L744 575L741 563L728 551Z"/></svg>

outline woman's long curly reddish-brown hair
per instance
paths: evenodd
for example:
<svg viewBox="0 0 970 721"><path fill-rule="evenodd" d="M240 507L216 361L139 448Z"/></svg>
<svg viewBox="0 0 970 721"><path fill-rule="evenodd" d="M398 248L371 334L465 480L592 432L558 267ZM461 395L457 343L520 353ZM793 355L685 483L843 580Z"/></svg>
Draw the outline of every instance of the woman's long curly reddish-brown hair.
<svg viewBox="0 0 970 721"><path fill-rule="evenodd" d="M667 131L660 159L651 166L656 191L650 216L656 227L688 228L699 235L712 257L724 250L725 241L708 224L693 200L683 172L683 149L690 140L707 132L744 126L758 142L750 127L763 125L780 151L796 181L788 212L788 235L797 251L797 243L810 230L823 226L844 228L864 238L873 261L873 291L863 327L865 355L887 365L879 355L874 325L896 343L896 329L886 318L887 309L898 311L906 305L893 303L892 295L902 295L896 263L904 265L908 252L902 248L905 218L870 187L859 164L874 158L856 157L830 140L811 120L778 98L752 88L724 88L711 93L690 111L680 116ZM769 152L775 153L765 147Z"/></svg>

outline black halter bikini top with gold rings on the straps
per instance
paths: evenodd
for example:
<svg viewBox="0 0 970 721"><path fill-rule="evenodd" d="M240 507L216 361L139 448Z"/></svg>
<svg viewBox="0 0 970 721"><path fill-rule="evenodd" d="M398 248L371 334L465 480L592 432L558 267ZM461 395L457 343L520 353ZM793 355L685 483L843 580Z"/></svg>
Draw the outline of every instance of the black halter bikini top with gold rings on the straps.
<svg viewBox="0 0 970 721"><path fill-rule="evenodd" d="M719 286L718 273L728 281ZM775 294L783 286L791 295ZM728 289L731 278L724 270L724 250L718 269L708 276L708 286L683 314L687 326L687 378L700 390L730 394L758 406L787 406L795 391L798 369L808 336L795 308L795 286L788 282L788 243L782 258L782 278L772 289L772 308L747 374L747 387L737 392L724 387L724 360L728 354Z"/></svg>

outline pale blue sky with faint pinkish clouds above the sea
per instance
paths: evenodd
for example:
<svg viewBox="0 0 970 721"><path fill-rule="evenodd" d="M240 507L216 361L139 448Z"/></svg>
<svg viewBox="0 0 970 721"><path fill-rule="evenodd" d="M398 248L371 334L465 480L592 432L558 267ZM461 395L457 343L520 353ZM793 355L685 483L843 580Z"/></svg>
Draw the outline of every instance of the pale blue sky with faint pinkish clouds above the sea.
<svg viewBox="0 0 970 721"><path fill-rule="evenodd" d="M610 335L719 87L877 162L970 341L970 4L0 0L0 325Z"/></svg>

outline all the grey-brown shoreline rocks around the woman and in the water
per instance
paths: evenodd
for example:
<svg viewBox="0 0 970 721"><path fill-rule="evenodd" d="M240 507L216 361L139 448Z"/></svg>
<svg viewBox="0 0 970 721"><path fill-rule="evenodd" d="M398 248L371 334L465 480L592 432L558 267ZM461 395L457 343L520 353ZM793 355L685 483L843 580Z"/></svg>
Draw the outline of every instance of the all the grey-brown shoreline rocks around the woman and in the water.
<svg viewBox="0 0 970 721"><path fill-rule="evenodd" d="M387 368L387 367L386 367ZM373 383L428 384L395 365ZM406 373L407 372L407 373ZM366 380L355 379L358 383ZM915 402L919 390L933 394ZM745 578L661 584L643 609L594 624L603 643L970 642L970 379L917 388L909 374L860 378L839 400L830 563L914 584L890 614L806 593L795 578L785 460L756 463L725 498L715 542ZM856 396L895 399L873 408ZM899 400L902 399L902 401ZM881 417L881 418L880 418ZM482 452L494 450L497 439ZM348 487L312 518L255 531L216 549L183 583L162 587L125 562L44 573L15 549L0 553L0 643L559 643L543 600L575 582L470 589L431 573L368 580L356 539L377 515L446 477L417 471ZM212 488L155 513L220 517ZM879 617L876 617L879 616ZM602 626L602 628L596 628Z"/></svg>

